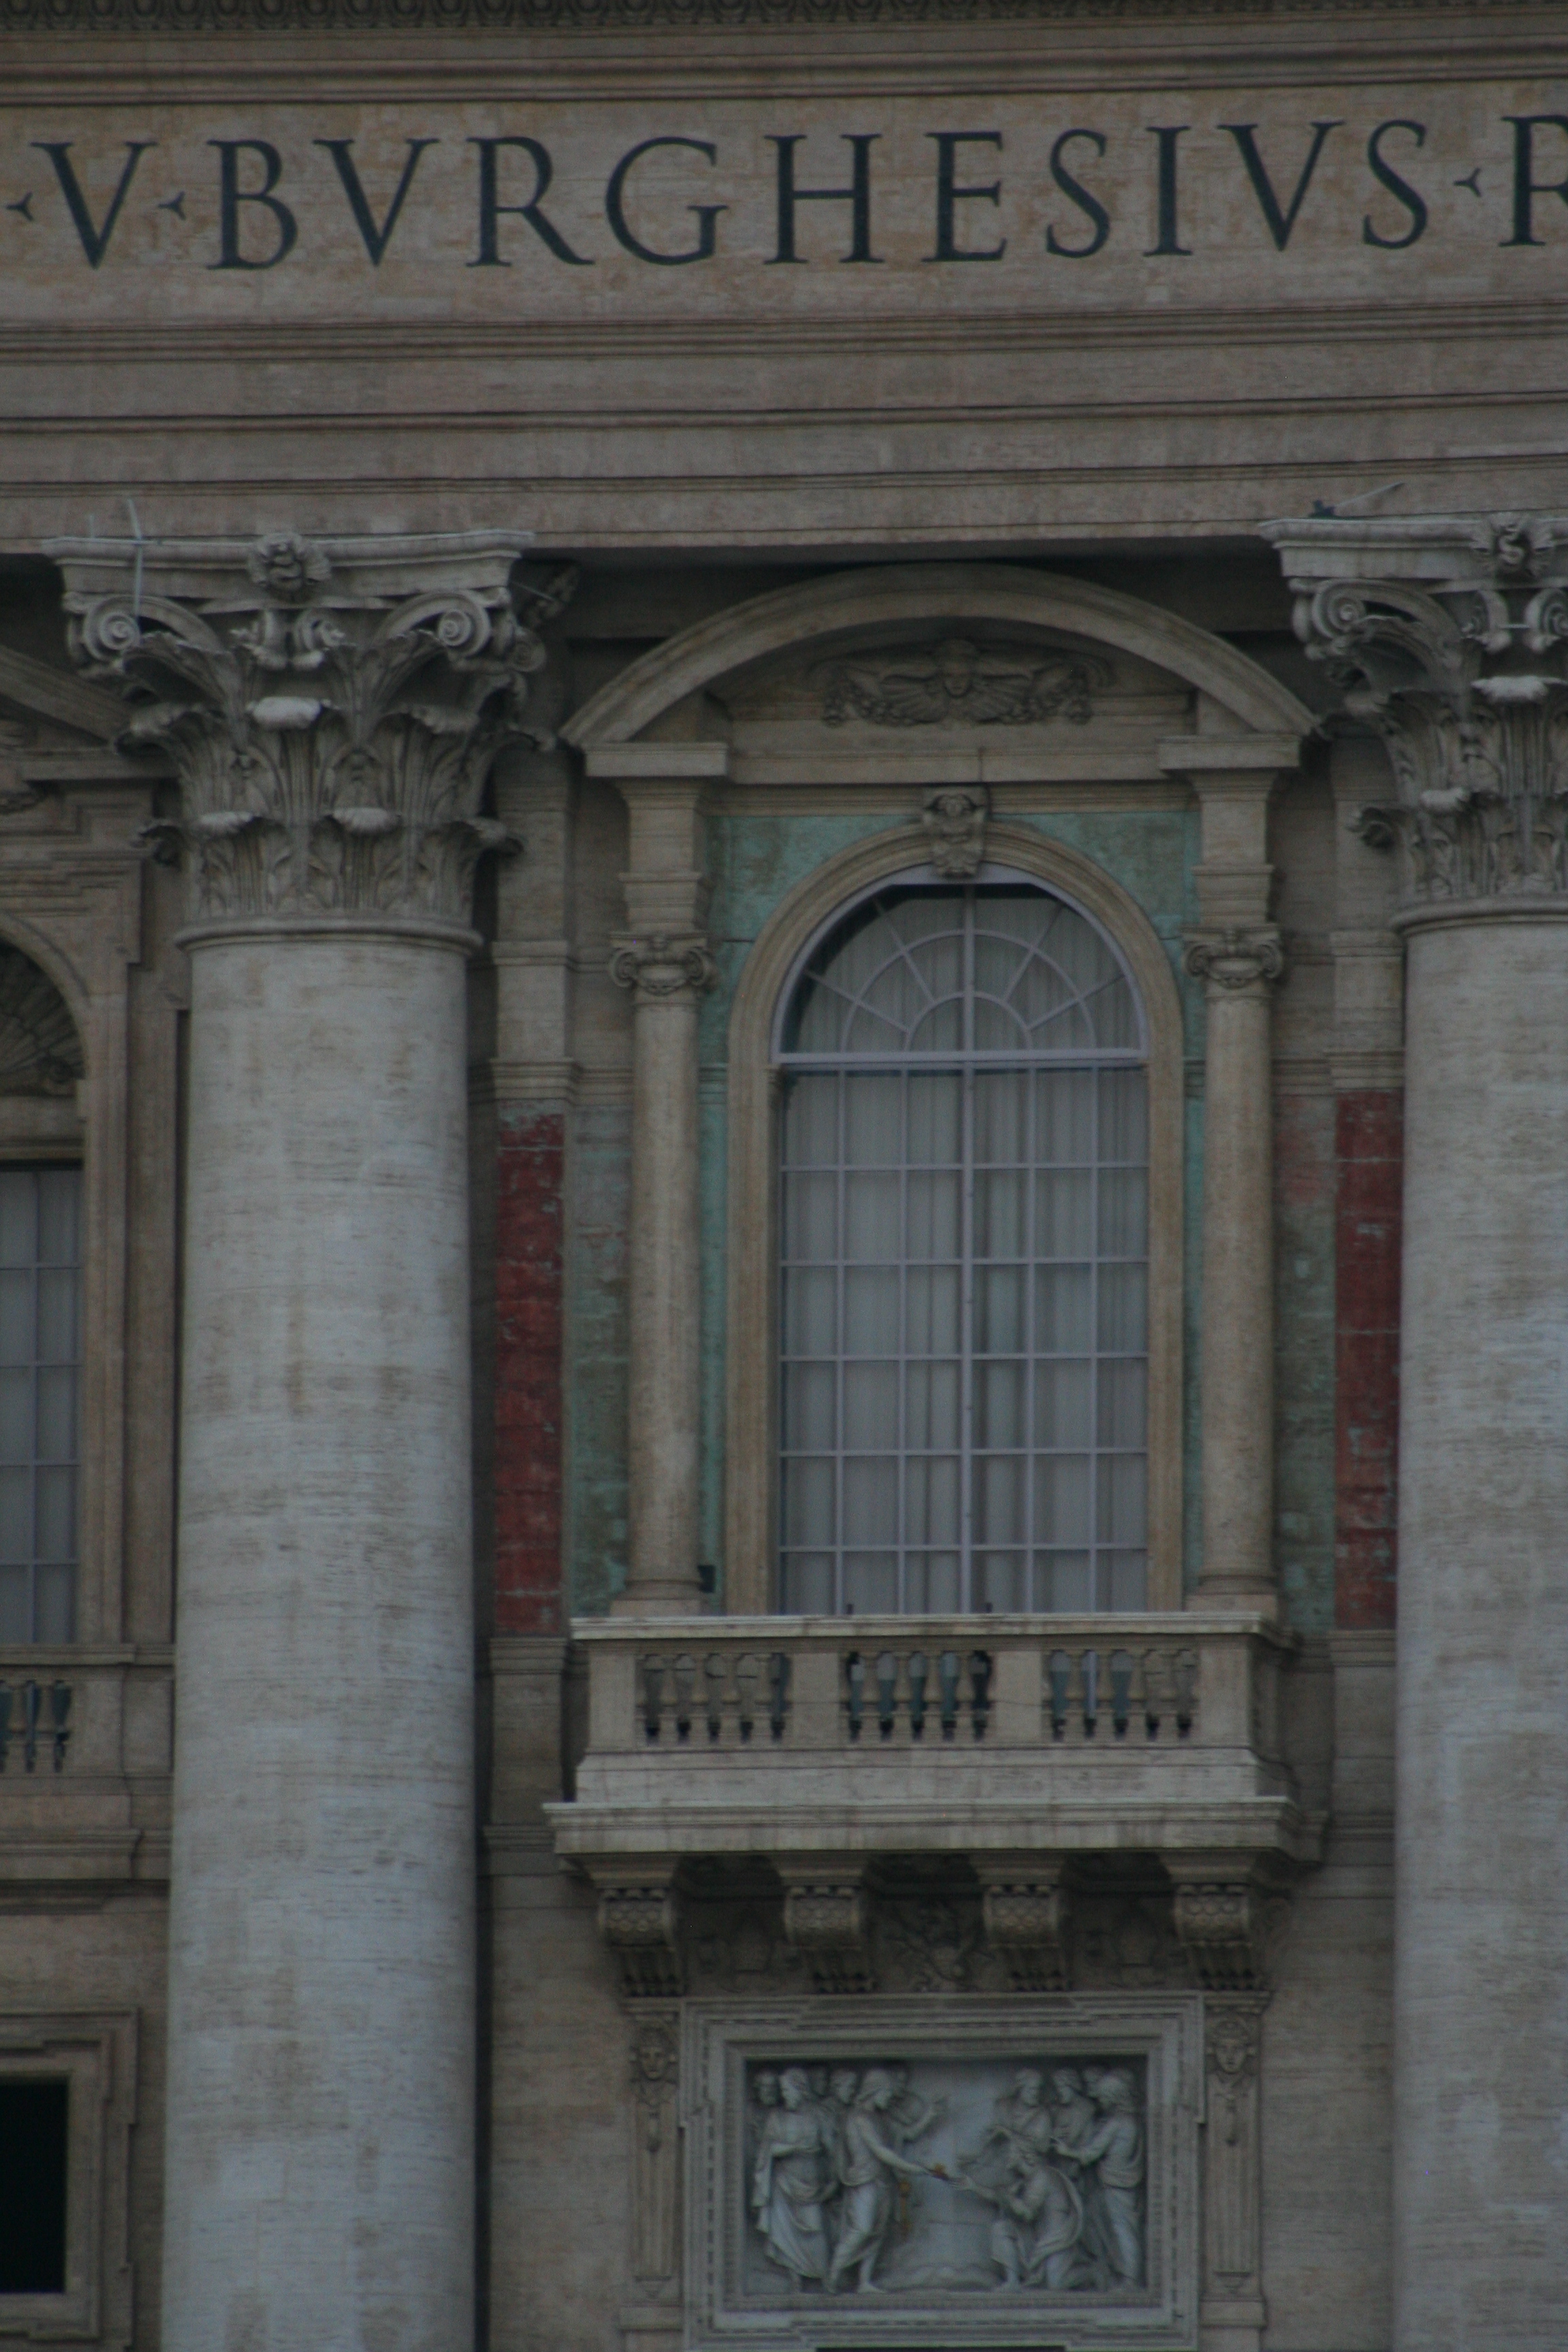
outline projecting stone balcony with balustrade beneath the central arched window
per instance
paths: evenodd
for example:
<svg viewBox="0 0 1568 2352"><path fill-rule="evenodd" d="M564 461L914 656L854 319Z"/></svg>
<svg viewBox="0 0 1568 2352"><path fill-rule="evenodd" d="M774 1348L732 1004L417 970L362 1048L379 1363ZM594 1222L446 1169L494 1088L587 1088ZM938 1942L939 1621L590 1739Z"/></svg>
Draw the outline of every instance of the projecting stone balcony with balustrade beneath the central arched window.
<svg viewBox="0 0 1568 2352"><path fill-rule="evenodd" d="M1262 1616L651 1618L576 1628L562 1858L1314 1860Z"/></svg>

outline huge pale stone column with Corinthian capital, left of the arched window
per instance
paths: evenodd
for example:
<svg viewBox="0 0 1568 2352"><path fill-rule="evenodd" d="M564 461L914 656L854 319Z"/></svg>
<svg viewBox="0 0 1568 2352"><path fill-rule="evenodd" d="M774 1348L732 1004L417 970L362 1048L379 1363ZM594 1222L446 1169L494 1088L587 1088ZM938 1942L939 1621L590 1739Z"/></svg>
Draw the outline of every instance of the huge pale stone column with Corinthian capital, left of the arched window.
<svg viewBox="0 0 1568 2352"><path fill-rule="evenodd" d="M165 2352L473 2345L463 960L520 548L49 548L193 917Z"/></svg>

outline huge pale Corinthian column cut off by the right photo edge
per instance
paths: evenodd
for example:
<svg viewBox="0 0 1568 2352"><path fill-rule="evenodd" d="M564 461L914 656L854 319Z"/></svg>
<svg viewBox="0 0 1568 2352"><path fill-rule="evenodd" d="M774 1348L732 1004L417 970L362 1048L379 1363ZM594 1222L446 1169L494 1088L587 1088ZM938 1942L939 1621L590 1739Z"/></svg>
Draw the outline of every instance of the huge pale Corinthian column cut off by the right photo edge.
<svg viewBox="0 0 1568 2352"><path fill-rule="evenodd" d="M1394 2343L1552 2352L1568 2274L1568 524L1276 522L1399 861Z"/></svg>

